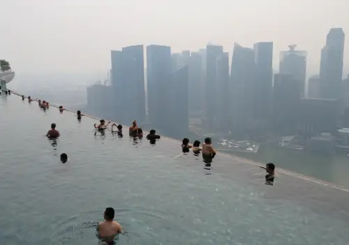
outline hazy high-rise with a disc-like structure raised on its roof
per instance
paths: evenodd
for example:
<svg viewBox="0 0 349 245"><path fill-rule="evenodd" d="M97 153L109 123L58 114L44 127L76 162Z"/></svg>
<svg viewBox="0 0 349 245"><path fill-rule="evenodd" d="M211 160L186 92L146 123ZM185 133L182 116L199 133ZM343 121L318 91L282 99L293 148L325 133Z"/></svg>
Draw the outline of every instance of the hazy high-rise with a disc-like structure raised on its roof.
<svg viewBox="0 0 349 245"><path fill-rule="evenodd" d="M290 50L280 52L280 74L291 74L300 84L300 97L305 97L307 72L307 52L296 51L296 45L289 45Z"/></svg>

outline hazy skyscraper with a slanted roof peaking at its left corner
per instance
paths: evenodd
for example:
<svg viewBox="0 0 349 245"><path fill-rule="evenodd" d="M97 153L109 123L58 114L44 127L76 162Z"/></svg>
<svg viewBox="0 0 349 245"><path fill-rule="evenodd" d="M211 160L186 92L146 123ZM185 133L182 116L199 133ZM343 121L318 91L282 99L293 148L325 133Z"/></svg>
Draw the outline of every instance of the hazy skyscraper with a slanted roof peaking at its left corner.
<svg viewBox="0 0 349 245"><path fill-rule="evenodd" d="M231 58L230 124L234 134L245 134L254 120L254 49L235 43Z"/></svg>

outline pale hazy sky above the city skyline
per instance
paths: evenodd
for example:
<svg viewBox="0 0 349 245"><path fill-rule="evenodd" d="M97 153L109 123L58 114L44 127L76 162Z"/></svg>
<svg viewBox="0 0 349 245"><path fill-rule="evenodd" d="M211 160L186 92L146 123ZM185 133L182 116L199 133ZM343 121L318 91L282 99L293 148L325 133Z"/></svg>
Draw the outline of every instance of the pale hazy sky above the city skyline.
<svg viewBox="0 0 349 245"><path fill-rule="evenodd" d="M347 34L348 0L0 0L0 58L20 73L107 72L110 50L137 44L195 51L208 42L231 55L234 42L297 44L308 51L308 76L317 73L331 27Z"/></svg>

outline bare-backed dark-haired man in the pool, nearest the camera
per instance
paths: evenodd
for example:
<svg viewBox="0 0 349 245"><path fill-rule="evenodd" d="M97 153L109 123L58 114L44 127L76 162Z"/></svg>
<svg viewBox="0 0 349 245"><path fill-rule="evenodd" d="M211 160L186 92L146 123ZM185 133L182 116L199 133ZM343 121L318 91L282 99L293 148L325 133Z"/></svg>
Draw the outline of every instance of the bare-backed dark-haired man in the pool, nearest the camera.
<svg viewBox="0 0 349 245"><path fill-rule="evenodd" d="M119 233L123 232L121 225L114 221L115 211L112 207L107 207L104 211L104 219L97 226L98 238L107 244L112 244L114 238Z"/></svg>

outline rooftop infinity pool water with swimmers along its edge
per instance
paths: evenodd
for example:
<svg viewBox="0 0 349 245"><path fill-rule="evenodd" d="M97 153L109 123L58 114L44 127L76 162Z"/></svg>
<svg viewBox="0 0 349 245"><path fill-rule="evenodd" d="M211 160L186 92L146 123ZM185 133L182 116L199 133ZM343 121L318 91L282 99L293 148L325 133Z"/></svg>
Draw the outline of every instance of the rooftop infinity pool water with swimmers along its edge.
<svg viewBox="0 0 349 245"><path fill-rule="evenodd" d="M44 136L56 122L61 138ZM207 168L180 143L97 134L96 120L0 96L0 244L98 244L105 207L118 244L349 244L349 192L217 155ZM66 164L59 161L68 154Z"/></svg>

